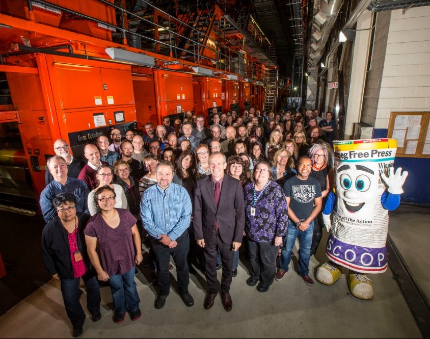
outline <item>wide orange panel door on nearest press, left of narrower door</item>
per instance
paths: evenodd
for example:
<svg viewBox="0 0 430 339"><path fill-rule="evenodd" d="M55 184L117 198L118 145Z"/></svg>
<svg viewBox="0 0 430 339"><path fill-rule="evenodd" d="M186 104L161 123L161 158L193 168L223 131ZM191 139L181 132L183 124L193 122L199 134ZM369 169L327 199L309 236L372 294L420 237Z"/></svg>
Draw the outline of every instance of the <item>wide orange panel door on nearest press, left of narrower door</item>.
<svg viewBox="0 0 430 339"><path fill-rule="evenodd" d="M52 77L57 78L55 83L58 84L58 88L52 88L57 109L105 105L100 68L58 62L55 63L54 68L55 72L50 75L51 82Z"/></svg>

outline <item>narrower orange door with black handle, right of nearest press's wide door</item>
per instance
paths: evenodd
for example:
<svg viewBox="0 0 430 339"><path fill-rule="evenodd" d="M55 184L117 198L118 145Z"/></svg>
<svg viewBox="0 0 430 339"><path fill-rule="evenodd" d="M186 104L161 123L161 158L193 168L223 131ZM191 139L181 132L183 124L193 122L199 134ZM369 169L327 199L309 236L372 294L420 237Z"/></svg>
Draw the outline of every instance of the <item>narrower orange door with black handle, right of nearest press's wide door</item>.
<svg viewBox="0 0 430 339"><path fill-rule="evenodd" d="M129 70L101 68L105 105L133 105L133 81Z"/></svg>

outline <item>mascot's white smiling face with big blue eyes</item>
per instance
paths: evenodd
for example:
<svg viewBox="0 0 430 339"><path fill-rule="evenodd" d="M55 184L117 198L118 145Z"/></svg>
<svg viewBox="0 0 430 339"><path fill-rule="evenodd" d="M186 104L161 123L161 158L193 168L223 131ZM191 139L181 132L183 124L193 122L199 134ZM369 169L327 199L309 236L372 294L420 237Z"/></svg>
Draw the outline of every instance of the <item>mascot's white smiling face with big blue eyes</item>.
<svg viewBox="0 0 430 339"><path fill-rule="evenodd" d="M338 212L354 217L371 214L378 175L378 171L362 165L340 166L336 173Z"/></svg>

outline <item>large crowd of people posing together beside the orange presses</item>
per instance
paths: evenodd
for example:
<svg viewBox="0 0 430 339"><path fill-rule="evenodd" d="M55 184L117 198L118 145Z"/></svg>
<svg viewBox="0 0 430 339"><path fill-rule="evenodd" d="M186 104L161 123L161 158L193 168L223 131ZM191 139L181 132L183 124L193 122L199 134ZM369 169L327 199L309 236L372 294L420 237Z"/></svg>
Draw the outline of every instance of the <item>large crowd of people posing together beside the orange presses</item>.
<svg viewBox="0 0 430 339"><path fill-rule="evenodd" d="M217 270L223 306L233 308L230 285L240 250L252 267L246 283L268 291L288 271L298 237L298 274L313 284L309 258L333 186L332 114L323 120L318 110L266 115L251 108L220 115L214 108L209 127L191 112L170 123L169 117L155 128L148 122L143 136L113 128L110 144L102 135L85 145L87 162L74 157L65 140L53 144L40 197L47 222L43 259L61 281L74 337L85 321L81 277L93 321L101 318L98 281L111 288L115 323L127 312L133 321L141 317L134 277L144 260L143 241L149 242L145 260L156 274L158 309L170 292L171 257L188 307L194 305L189 274L197 268L207 281L204 308L218 295Z"/></svg>

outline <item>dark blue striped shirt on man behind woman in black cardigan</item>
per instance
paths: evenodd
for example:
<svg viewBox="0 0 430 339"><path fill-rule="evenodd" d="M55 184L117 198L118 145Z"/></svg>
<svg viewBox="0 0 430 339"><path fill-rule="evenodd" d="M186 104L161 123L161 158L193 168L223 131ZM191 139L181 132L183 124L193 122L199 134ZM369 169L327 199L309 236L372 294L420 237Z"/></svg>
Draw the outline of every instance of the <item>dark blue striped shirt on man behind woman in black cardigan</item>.
<svg viewBox="0 0 430 339"><path fill-rule="evenodd" d="M90 193L87 184L79 179L67 178L66 184L53 180L40 194L40 208L42 210L43 219L46 222L57 216L56 208L52 204L53 198L60 193L71 193L76 199L76 212L88 213L88 193ZM89 214L89 213L88 213Z"/></svg>

